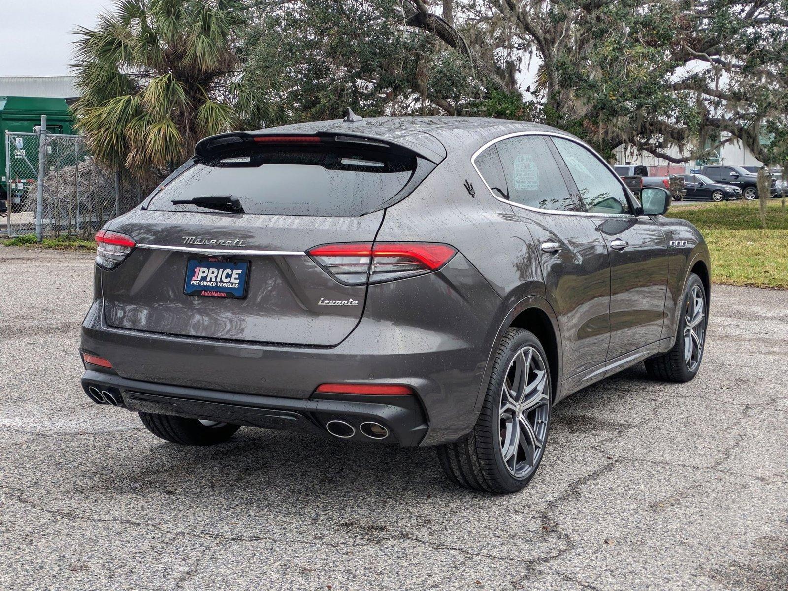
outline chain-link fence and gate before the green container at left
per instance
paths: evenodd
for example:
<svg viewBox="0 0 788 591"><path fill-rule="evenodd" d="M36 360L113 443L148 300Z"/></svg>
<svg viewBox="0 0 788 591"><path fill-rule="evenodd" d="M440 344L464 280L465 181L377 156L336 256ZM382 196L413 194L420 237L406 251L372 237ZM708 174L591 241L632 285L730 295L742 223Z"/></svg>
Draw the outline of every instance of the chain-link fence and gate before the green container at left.
<svg viewBox="0 0 788 591"><path fill-rule="evenodd" d="M46 129L45 121L41 128ZM8 236L90 240L107 220L143 197L128 173L96 165L82 136L6 132L5 147Z"/></svg>

